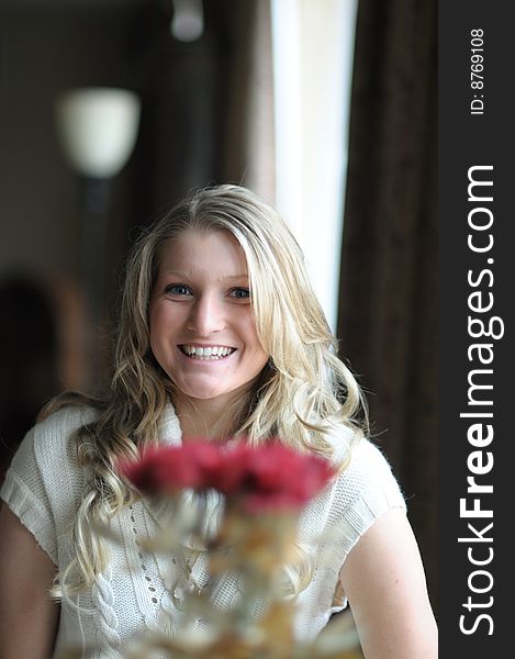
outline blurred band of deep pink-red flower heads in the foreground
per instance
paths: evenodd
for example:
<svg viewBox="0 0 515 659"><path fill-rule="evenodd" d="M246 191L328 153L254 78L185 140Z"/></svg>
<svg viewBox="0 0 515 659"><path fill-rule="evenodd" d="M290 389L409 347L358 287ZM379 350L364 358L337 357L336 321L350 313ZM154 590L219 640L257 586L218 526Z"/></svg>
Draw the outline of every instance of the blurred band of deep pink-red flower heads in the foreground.
<svg viewBox="0 0 515 659"><path fill-rule="evenodd" d="M215 489L250 513L298 510L334 476L327 460L278 442L259 447L208 442L159 446L121 465L121 472L145 494Z"/></svg>

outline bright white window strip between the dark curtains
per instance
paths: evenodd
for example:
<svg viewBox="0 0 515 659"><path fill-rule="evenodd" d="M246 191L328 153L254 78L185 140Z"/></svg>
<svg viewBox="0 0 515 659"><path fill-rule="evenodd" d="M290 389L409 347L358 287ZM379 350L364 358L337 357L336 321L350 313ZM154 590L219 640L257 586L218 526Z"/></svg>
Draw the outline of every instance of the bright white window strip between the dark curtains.
<svg viewBox="0 0 515 659"><path fill-rule="evenodd" d="M357 0L270 0L276 205L337 320Z"/></svg>

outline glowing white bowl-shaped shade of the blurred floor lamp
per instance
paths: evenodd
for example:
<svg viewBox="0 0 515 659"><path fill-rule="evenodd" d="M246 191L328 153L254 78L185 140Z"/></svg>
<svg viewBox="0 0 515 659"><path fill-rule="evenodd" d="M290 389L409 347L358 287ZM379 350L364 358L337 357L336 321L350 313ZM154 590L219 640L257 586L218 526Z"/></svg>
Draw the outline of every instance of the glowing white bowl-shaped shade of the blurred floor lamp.
<svg viewBox="0 0 515 659"><path fill-rule="evenodd" d="M136 144L139 98L127 89L86 87L56 101L57 134L65 156L80 174L111 178Z"/></svg>

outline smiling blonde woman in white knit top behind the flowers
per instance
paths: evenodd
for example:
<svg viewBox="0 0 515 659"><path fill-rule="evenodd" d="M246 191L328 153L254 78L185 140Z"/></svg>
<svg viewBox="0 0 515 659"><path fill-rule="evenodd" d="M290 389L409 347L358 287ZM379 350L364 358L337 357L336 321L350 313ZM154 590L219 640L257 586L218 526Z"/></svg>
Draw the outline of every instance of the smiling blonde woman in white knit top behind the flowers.
<svg viewBox="0 0 515 659"><path fill-rule="evenodd" d="M296 604L295 638L311 643L350 602L367 659L435 659L405 502L366 437L362 395L336 346L299 245L249 190L199 190L144 232L127 261L104 398L52 401L5 476L2 659L46 657L49 648L121 659L149 630L181 628L173 583L182 570L206 587L205 547L181 539L191 562L172 558L170 581L168 557L143 552L159 527L156 507L117 467L149 447L187 448L199 435L243 453L273 438L327 462L333 477L299 521L299 559L280 574ZM280 450L267 455L276 456L266 472L277 482ZM215 530L223 499L195 503ZM239 577L221 577L210 593L224 615L238 605ZM27 600L37 615L27 617Z"/></svg>

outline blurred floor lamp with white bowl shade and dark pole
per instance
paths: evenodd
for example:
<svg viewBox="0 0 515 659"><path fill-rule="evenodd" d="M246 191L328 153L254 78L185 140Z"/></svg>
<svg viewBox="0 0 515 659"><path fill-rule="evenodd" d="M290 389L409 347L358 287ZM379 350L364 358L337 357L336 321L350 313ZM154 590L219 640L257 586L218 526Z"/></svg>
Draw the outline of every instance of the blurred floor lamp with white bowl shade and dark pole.
<svg viewBox="0 0 515 659"><path fill-rule="evenodd" d="M126 89L88 87L63 92L55 107L58 138L83 188L79 276L91 317L88 340L93 370L101 366L99 328L105 315L105 242L112 179L134 149L141 101ZM93 373L94 380L96 373Z"/></svg>

